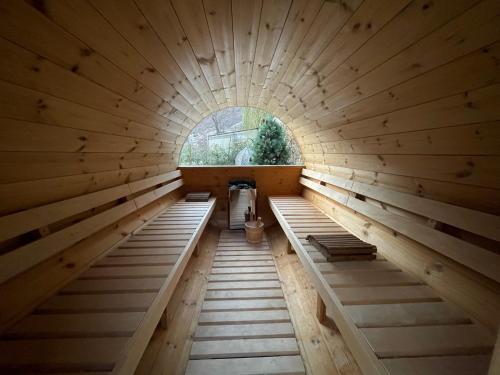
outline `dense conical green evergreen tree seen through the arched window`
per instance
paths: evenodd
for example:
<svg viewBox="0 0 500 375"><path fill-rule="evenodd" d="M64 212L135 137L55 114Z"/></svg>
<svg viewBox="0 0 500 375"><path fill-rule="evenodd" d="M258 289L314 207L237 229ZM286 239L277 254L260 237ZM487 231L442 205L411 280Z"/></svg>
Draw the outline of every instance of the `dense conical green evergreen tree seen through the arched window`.
<svg viewBox="0 0 500 375"><path fill-rule="evenodd" d="M272 116L266 116L253 142L253 164L283 165L289 164L289 159L290 150L283 127Z"/></svg>

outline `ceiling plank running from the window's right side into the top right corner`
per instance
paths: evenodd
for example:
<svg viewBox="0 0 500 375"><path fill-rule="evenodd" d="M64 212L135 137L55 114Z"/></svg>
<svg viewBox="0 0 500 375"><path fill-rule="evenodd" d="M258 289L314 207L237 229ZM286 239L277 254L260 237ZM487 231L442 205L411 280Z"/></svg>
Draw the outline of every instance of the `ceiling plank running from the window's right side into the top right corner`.
<svg viewBox="0 0 500 375"><path fill-rule="evenodd" d="M497 1L481 2L366 75L351 82L333 96L330 93L323 104L320 103L316 107L308 104L306 115L311 119L316 119L319 113L322 113L319 117L323 117L333 109L342 110L380 91L418 77L478 48L496 42L500 26L498 26L495 14L499 12L499 9L500 5ZM456 40L463 42L457 43ZM436 48L437 45L439 48ZM433 53L422 54L420 51L433 51Z"/></svg>

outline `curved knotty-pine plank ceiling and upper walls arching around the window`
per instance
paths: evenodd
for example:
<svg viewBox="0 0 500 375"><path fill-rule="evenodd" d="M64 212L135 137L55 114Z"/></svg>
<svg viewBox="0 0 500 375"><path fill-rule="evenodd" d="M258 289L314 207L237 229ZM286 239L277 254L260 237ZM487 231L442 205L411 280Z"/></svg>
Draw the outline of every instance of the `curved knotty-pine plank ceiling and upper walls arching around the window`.
<svg viewBox="0 0 500 375"><path fill-rule="evenodd" d="M4 0L3 211L171 170L200 119L249 105L309 168L500 212L499 8Z"/></svg>

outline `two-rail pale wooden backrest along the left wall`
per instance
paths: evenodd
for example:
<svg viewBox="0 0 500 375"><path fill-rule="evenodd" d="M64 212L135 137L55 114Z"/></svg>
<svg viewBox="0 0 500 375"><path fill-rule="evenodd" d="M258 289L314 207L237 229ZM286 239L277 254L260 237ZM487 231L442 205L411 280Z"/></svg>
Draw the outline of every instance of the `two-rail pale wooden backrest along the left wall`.
<svg viewBox="0 0 500 375"><path fill-rule="evenodd" d="M0 255L0 283L181 187L179 177L176 170L1 217L0 242L32 231L40 237ZM72 222L83 213L84 218Z"/></svg>

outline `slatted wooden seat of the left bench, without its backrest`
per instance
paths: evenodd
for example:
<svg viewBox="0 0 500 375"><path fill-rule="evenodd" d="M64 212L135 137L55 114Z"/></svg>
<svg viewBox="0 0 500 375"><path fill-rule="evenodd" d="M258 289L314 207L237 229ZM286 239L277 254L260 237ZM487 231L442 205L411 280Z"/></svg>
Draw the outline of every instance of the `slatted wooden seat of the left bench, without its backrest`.
<svg viewBox="0 0 500 375"><path fill-rule="evenodd" d="M179 201L4 332L0 373L112 371L152 333L214 206Z"/></svg>

